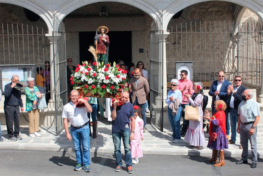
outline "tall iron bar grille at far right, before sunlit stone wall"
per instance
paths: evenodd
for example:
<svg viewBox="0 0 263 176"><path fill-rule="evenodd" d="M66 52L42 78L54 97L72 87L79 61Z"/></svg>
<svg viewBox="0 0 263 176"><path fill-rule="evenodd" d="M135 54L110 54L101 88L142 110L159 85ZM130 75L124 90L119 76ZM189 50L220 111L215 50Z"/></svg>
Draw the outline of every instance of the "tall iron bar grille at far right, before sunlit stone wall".
<svg viewBox="0 0 263 176"><path fill-rule="evenodd" d="M247 88L262 87L263 25L253 18L246 20L237 33L237 73Z"/></svg>

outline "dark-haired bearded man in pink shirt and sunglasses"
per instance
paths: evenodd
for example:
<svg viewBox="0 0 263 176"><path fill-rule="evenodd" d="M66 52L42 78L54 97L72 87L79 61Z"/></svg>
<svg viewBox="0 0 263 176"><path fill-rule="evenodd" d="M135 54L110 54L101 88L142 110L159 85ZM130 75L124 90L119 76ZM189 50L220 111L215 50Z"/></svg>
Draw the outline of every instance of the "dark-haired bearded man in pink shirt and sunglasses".
<svg viewBox="0 0 263 176"><path fill-rule="evenodd" d="M189 105L187 98L183 96L183 94L187 94L187 93L189 93L190 95L193 94L193 82L187 79L187 75L188 75L188 71L181 70L181 74L180 74L181 79L179 80L178 89L182 93L182 103L181 103L182 112L183 112L183 109L185 109L185 106ZM184 113L182 113L182 116L184 117ZM186 122L184 120L184 124L185 123ZM188 123L189 122L187 122L187 124Z"/></svg>

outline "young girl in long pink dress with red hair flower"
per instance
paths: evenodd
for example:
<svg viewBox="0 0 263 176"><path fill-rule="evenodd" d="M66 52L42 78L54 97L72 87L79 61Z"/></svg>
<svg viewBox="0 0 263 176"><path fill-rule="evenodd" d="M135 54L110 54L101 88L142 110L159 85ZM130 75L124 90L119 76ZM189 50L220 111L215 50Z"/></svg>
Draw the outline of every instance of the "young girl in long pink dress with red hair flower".
<svg viewBox="0 0 263 176"><path fill-rule="evenodd" d="M141 111L139 106L134 106L134 118L135 118L135 129L134 129L134 140L131 140L131 158L132 163L139 163L139 158L143 157L141 141L143 140L143 119L140 118ZM130 124L131 130L131 124Z"/></svg>

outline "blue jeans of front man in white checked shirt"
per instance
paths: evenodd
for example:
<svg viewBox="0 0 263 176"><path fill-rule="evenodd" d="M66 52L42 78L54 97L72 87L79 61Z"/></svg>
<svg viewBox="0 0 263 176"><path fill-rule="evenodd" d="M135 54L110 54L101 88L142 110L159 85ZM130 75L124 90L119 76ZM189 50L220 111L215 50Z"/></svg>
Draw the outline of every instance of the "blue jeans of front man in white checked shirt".
<svg viewBox="0 0 263 176"><path fill-rule="evenodd" d="M90 165L90 150L89 150L89 125L81 129L70 127L73 144L76 153L77 163L82 163L83 166ZM82 150L81 150L82 145Z"/></svg>

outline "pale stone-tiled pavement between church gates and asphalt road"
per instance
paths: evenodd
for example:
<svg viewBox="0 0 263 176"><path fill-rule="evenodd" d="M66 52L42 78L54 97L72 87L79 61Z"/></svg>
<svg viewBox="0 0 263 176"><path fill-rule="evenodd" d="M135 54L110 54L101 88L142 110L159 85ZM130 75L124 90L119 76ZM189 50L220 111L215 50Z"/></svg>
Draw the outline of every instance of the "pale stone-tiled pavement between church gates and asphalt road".
<svg viewBox="0 0 263 176"><path fill-rule="evenodd" d="M149 120L149 118L147 118ZM39 132L41 137L30 138L28 136L28 126L20 127L20 135L22 140L11 141L8 140L6 126L2 125L3 142L0 142L0 148L5 149L26 149L26 150L52 150L52 151L74 151L73 142L66 139L65 130L59 135L54 135L55 128L41 126ZM205 128L206 129L206 128ZM257 152L261 157L263 154L263 124L257 126ZM209 134L205 133L206 141L208 142ZM146 125L146 132L144 133L144 140L142 141L143 154L165 154L165 155L196 155L196 156L211 156L212 150L204 146L202 150L194 150L188 147L188 142L183 140L179 143L173 143L168 140L172 135L169 126L165 126L164 131L160 132L155 126L148 123ZM182 136L184 139L184 135ZM235 145L229 145L229 149L225 150L225 156L241 157L242 149L239 149L240 140L237 136ZM250 148L250 145L249 145ZM90 138L91 152L114 152L113 141L111 138L111 125L108 124L107 119L99 120L98 137L96 139ZM122 150L123 147L122 147ZM251 157L251 152L249 152Z"/></svg>

